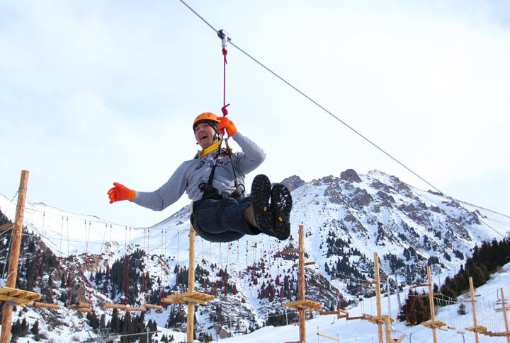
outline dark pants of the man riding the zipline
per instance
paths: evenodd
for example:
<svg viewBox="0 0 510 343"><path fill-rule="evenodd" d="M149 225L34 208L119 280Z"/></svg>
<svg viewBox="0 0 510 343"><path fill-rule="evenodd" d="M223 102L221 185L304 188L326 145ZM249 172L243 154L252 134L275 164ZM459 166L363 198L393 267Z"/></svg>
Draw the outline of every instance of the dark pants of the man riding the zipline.
<svg viewBox="0 0 510 343"><path fill-rule="evenodd" d="M250 197L226 197L193 202L193 228L198 236L210 242L232 242L244 235L258 235L261 231L244 219L244 209L250 201Z"/></svg>

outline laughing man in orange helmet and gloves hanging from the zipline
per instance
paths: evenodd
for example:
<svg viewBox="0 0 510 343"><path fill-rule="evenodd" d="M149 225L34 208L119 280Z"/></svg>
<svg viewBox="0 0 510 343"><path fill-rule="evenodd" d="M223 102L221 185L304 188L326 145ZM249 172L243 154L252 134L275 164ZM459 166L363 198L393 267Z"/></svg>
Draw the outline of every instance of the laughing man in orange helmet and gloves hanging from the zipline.
<svg viewBox="0 0 510 343"><path fill-rule="evenodd" d="M169 180L154 192L137 192L118 182L108 190L110 203L130 200L154 211L174 204L183 192L193 200L191 223L198 235L211 242L230 242L244 235L265 233L279 240L290 236L292 197L287 187L256 175L250 197L244 197L244 176L266 159L253 141L237 132L227 117L205 112L193 121L197 144L195 158L183 162ZM242 151L222 149L227 132Z"/></svg>

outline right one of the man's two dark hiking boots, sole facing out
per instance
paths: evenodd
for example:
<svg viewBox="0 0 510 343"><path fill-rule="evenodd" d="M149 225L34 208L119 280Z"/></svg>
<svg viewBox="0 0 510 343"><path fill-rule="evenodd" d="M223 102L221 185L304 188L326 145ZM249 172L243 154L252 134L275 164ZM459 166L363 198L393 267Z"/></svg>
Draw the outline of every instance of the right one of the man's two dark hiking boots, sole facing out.
<svg viewBox="0 0 510 343"><path fill-rule="evenodd" d="M290 210L292 209L292 195L284 185L277 183L271 190L271 211L273 212L274 236L285 240L290 236Z"/></svg>

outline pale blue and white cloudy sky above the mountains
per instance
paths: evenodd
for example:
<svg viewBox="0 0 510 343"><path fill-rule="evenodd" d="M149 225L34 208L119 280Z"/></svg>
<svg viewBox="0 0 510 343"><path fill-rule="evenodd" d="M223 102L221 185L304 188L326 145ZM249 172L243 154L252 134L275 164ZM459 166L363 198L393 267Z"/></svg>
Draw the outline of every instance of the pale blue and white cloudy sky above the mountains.
<svg viewBox="0 0 510 343"><path fill-rule="evenodd" d="M375 169L510 215L506 1L186 4L210 26L177 0L0 0L1 194L29 170L28 202L123 225L188 204L106 192L156 190L193 158L194 117L223 105L223 29L228 116L267 154L247 189Z"/></svg>

